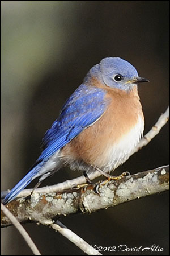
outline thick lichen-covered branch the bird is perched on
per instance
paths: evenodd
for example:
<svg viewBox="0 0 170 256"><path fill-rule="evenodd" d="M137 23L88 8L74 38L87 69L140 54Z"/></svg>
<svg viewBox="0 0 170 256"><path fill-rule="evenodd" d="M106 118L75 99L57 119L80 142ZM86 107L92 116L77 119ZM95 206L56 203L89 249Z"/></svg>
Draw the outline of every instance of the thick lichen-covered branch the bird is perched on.
<svg viewBox="0 0 170 256"><path fill-rule="evenodd" d="M169 166L163 166L120 180L111 180L105 185L91 184L48 194L33 192L30 200L14 200L7 204L7 208L20 223L32 221L46 225L47 221L52 224L61 214L66 216L78 212L92 213L168 189ZM96 190L99 193L95 192ZM11 224L11 221L1 214L1 227Z"/></svg>

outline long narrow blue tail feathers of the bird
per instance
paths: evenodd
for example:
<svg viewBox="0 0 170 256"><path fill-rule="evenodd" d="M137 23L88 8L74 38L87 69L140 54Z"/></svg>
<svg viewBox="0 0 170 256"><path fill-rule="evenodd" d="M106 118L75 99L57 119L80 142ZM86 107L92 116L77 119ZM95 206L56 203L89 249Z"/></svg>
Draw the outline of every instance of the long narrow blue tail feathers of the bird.
<svg viewBox="0 0 170 256"><path fill-rule="evenodd" d="M37 172L40 169L40 164L35 164L35 166L31 169L31 171L26 174L22 180L19 181L18 184L15 185L14 188L6 195L6 197L2 200L3 204L7 204L10 201L14 200L15 197L21 192L35 177L37 177ZM34 177L35 176L35 177Z"/></svg>

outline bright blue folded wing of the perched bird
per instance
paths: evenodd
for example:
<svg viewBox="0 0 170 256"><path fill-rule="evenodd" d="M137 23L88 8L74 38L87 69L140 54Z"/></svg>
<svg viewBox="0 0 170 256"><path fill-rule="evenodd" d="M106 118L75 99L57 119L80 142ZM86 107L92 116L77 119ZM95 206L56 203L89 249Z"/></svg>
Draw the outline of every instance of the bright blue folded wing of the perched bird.
<svg viewBox="0 0 170 256"><path fill-rule="evenodd" d="M103 89L80 85L66 101L58 119L42 138L43 151L38 160L49 158L92 125L105 112L107 104Z"/></svg>

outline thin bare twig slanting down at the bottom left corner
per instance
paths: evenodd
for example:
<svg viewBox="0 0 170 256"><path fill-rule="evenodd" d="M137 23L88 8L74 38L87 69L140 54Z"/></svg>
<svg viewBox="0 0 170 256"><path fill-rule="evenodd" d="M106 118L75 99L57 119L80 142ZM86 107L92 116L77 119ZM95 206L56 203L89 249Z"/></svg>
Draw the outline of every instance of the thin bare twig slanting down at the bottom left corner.
<svg viewBox="0 0 170 256"><path fill-rule="evenodd" d="M19 233L23 236L25 242L27 242L29 248L32 250L34 255L41 255L40 251L37 249L35 243L32 241L29 234L23 228L23 226L18 222L18 220L14 217L14 215L1 203L1 210L7 216L7 218L11 221L11 223L18 229Z"/></svg>

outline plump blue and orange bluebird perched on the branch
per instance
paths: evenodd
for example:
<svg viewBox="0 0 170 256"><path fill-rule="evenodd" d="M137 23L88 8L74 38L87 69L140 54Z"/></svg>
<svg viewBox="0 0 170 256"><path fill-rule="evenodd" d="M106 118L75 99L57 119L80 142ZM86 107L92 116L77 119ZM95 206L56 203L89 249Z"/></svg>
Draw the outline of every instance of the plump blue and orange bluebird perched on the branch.
<svg viewBox="0 0 170 256"><path fill-rule="evenodd" d="M119 57L92 67L46 131L40 157L3 203L15 199L36 177L40 184L65 165L89 174L96 168L108 173L124 163L144 129L139 82L148 80Z"/></svg>

